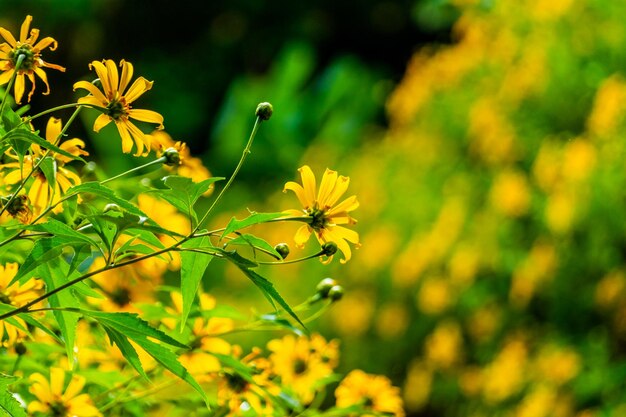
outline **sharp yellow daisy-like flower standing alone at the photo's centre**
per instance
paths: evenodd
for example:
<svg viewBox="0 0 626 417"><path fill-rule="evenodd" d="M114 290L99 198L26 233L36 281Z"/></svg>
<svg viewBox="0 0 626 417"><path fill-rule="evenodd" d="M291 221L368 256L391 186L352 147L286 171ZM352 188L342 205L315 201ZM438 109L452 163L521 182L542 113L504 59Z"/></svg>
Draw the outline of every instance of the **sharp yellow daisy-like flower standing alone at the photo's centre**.
<svg viewBox="0 0 626 417"><path fill-rule="evenodd" d="M316 190L315 175L308 165L304 165L298 171L302 177L302 185L289 181L285 184L284 192L293 191L303 210L287 210L286 214L291 216L308 217L307 224L301 226L295 235L296 245L303 247L309 240L312 233L320 244L334 242L337 248L343 253L345 263L352 257L350 250L351 242L359 246L359 235L354 230L350 230L341 225L355 224L356 220L348 213L359 207L356 196L350 196L337 204L337 201L348 189L350 178L337 175L337 171L326 169L319 191Z"/></svg>

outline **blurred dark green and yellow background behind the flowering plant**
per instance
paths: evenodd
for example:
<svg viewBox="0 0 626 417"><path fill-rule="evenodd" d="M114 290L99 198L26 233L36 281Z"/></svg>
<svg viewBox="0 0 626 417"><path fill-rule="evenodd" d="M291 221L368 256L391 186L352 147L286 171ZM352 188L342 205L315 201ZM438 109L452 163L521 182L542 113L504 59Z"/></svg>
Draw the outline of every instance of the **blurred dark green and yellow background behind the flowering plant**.
<svg viewBox="0 0 626 417"><path fill-rule="evenodd" d="M33 107L124 58L155 80L142 107L215 175L271 101L221 216L296 207L282 184L305 163L350 176L353 260L263 273L292 304L338 280L311 327L341 339L340 372L400 386L407 415L626 415L626 3L312 3L3 0L0 25L32 14L60 41L46 58L68 70ZM134 163L83 130L109 172ZM267 309L227 266L205 280Z"/></svg>

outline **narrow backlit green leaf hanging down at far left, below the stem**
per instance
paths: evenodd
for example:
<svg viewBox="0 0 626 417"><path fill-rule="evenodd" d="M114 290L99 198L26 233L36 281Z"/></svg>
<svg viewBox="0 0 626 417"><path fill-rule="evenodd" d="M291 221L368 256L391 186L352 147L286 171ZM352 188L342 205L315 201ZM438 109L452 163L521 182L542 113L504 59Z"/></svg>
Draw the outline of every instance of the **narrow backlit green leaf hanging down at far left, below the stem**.
<svg viewBox="0 0 626 417"><path fill-rule="evenodd" d="M40 265L37 268L39 277L46 283L46 290L50 291L55 288L59 288L61 285L68 282L69 266L62 262L60 259L47 262ZM78 307L79 302L74 296L74 292L71 288L59 291L56 294L48 297L48 302L53 308L61 307ZM76 341L76 325L78 323L79 315L75 312L69 311L52 311L54 318L59 324L59 330L61 331L61 337L65 342L65 350L67 358L70 364L74 361L74 343Z"/></svg>

